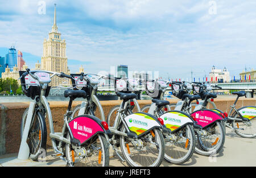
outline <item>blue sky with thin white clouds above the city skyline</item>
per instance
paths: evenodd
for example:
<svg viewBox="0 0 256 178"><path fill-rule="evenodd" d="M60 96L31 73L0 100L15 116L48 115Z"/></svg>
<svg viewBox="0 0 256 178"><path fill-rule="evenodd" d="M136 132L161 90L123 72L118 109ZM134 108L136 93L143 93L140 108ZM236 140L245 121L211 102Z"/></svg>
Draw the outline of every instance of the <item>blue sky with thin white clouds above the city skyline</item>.
<svg viewBox="0 0 256 178"><path fill-rule="evenodd" d="M256 1L238 0L0 0L0 56L15 45L28 67L42 57L53 25L67 43L72 73L159 72L163 78L196 80L212 66L230 78L256 68Z"/></svg>

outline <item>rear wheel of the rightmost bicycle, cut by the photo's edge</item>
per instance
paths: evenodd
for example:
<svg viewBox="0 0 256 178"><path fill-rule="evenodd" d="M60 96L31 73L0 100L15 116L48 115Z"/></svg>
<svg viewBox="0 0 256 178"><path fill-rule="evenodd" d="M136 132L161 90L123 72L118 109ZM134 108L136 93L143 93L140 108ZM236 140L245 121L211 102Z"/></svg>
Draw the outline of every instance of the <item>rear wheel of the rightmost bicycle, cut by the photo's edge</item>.
<svg viewBox="0 0 256 178"><path fill-rule="evenodd" d="M236 114L234 118L240 118L240 115ZM232 127L235 129L237 135L244 138L256 137L256 118L250 119L250 121L232 121Z"/></svg>

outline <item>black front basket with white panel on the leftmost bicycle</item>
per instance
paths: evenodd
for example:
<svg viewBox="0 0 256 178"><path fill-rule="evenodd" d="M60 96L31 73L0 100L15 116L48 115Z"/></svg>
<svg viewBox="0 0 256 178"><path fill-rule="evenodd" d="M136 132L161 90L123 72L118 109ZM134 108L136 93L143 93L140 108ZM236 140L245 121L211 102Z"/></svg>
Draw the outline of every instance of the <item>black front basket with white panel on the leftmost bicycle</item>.
<svg viewBox="0 0 256 178"><path fill-rule="evenodd" d="M19 71L19 76L22 76L22 74L26 71ZM35 72L33 72L34 74ZM20 78L20 83L22 85L22 91L27 96L32 98L32 100L35 99L36 96L40 96L41 93L41 87L39 85L39 82L32 78L29 74L27 76ZM51 86L47 86L46 94L47 97L49 95L49 90L51 89Z"/></svg>

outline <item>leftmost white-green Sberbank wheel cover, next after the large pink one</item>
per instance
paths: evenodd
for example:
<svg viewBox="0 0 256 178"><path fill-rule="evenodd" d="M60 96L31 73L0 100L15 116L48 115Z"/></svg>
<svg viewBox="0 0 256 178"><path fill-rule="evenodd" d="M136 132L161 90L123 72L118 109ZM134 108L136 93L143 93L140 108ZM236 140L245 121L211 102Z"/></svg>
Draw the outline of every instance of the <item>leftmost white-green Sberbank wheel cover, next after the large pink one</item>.
<svg viewBox="0 0 256 178"><path fill-rule="evenodd" d="M134 113L130 114L123 119L125 124L129 127L131 133L142 136L147 134L154 128L162 128L162 125L159 123L158 119L148 113Z"/></svg>

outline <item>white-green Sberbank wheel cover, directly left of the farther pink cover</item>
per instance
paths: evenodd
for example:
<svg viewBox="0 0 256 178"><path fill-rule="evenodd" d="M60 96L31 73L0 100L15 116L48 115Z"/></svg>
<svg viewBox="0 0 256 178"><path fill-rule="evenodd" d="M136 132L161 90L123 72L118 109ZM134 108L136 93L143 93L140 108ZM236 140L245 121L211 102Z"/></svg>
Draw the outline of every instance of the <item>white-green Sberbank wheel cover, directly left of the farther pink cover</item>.
<svg viewBox="0 0 256 178"><path fill-rule="evenodd" d="M160 116L160 118L163 119L164 125L172 131L177 131L184 127L185 125L188 125L189 123L193 124L194 121L190 117L190 115L184 113L183 111L168 111L167 113L164 113Z"/></svg>

